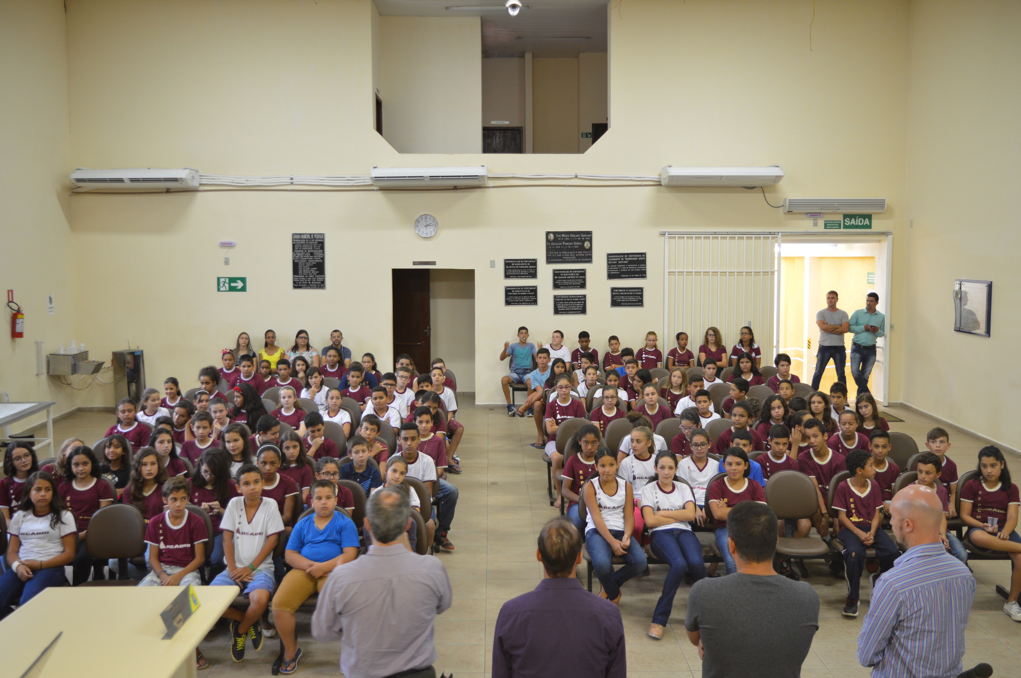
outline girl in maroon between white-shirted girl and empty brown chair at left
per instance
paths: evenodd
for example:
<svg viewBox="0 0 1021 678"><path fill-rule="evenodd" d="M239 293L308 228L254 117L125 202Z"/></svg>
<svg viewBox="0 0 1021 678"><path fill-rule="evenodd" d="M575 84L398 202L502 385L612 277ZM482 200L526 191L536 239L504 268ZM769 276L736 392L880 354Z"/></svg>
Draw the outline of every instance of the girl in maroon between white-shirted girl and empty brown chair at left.
<svg viewBox="0 0 1021 678"><path fill-rule="evenodd" d="M169 437L169 436L167 436ZM180 462L179 462L180 463ZM116 494L109 483L100 479L99 460L92 448L79 446L67 455L64 477L60 479L57 491L63 505L75 516L78 524L78 551L71 563L71 585L78 586L89 580L93 564L99 564L85 547L85 535L89 530L92 515L105 506L113 504ZM95 568L96 579L103 578L103 566Z"/></svg>

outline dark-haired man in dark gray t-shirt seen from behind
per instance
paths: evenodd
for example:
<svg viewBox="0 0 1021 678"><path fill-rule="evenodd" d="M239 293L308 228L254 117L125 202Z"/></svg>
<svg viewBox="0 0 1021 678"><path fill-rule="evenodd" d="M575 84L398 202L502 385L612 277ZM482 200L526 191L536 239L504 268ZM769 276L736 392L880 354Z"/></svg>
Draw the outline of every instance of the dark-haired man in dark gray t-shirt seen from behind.
<svg viewBox="0 0 1021 678"><path fill-rule="evenodd" d="M688 593L684 627L702 659L702 678L800 675L819 630L819 595L773 570L776 542L768 506L741 502L730 510L727 545L737 572L696 581Z"/></svg>

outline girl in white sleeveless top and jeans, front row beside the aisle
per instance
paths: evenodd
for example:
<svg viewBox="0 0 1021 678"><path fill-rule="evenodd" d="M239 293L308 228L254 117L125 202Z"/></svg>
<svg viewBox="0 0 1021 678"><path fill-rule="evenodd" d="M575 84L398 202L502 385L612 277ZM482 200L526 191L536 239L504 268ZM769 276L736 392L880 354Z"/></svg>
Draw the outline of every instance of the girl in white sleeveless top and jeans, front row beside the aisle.
<svg viewBox="0 0 1021 678"><path fill-rule="evenodd" d="M592 569L599 579L599 596L621 605L621 586L645 569L646 558L634 532L634 496L631 484L617 477L617 458L612 450L595 453L597 478L582 486L585 498L585 545ZM623 485L623 486L622 486ZM614 571L613 557L624 556L626 564Z"/></svg>

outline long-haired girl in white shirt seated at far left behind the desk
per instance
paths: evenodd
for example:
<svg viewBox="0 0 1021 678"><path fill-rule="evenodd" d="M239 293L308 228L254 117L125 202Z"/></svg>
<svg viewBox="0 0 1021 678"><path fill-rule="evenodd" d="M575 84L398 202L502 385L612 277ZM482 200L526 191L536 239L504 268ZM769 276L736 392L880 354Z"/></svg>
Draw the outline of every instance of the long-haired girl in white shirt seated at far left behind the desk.
<svg viewBox="0 0 1021 678"><path fill-rule="evenodd" d="M7 528L6 571L0 575L0 619L44 588L65 585L64 566L75 560L78 547L75 517L64 511L53 476L38 471L25 484L21 502Z"/></svg>

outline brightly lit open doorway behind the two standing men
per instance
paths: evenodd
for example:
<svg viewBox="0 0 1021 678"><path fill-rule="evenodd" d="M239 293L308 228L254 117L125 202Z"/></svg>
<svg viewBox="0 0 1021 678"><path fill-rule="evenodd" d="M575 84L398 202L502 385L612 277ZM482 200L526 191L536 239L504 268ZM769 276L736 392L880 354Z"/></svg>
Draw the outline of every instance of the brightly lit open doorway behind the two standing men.
<svg viewBox="0 0 1021 678"><path fill-rule="evenodd" d="M811 383L816 369L819 328L816 313L826 308L826 293L837 292L837 307L852 315L865 307L870 292L879 295L878 310L887 315L889 331L889 239L886 234L868 238L815 237L788 238L780 245L779 337L780 352L791 357L791 373ZM844 374L847 393L854 400L858 388L850 373L853 334L844 334L846 355ZM869 377L869 390L885 405L889 384L886 362L886 338L877 341L876 363ZM829 393L836 380L831 361L823 372L819 388Z"/></svg>

